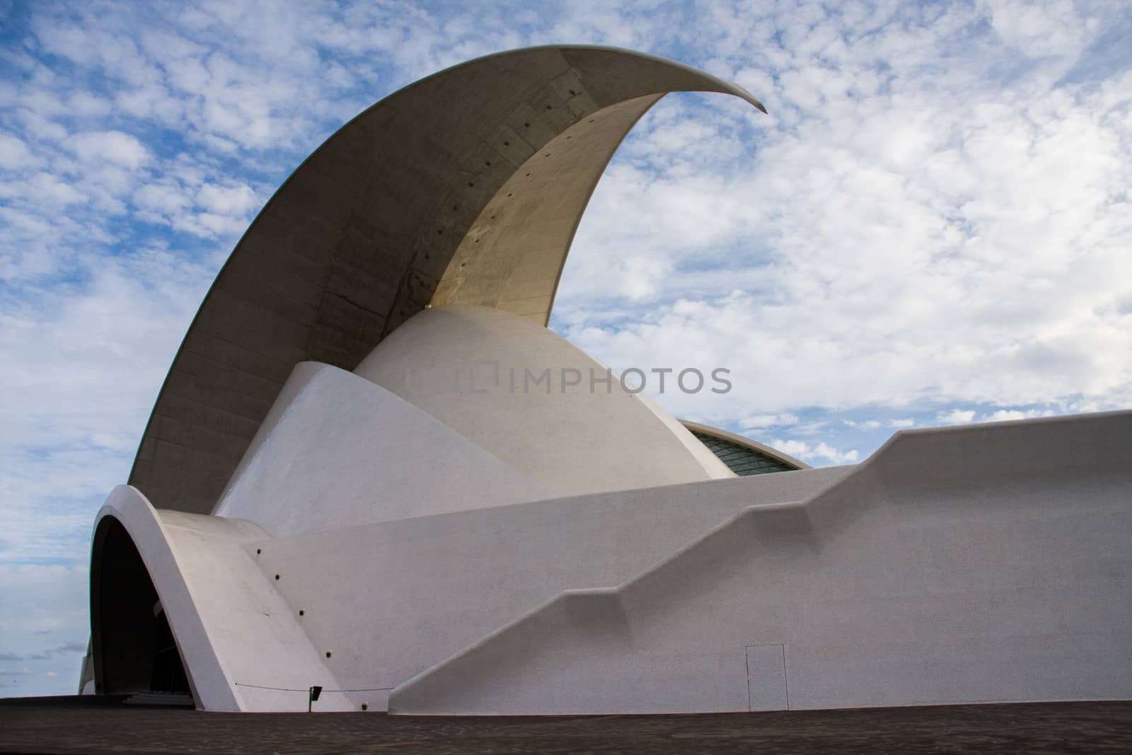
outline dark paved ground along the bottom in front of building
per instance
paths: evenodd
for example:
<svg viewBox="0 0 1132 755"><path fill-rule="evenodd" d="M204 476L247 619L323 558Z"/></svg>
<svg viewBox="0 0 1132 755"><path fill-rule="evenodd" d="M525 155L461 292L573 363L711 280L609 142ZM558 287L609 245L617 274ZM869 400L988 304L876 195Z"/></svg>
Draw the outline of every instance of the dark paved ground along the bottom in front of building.
<svg viewBox="0 0 1132 755"><path fill-rule="evenodd" d="M41 698L42 700L42 698ZM402 718L0 702L0 753L1132 753L1132 702Z"/></svg>

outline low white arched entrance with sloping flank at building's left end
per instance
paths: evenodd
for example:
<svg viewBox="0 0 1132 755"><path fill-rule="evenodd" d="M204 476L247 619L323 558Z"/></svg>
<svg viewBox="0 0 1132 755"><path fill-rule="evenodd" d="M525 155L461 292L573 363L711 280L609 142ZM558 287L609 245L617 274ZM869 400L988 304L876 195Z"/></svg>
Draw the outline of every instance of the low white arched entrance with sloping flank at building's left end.
<svg viewBox="0 0 1132 755"><path fill-rule="evenodd" d="M114 531L135 549L139 578L149 582L148 591L127 600L121 593L131 585L105 576L106 561L115 554L104 544ZM136 488L114 488L95 518L91 558L95 688L148 689L148 668L137 658L147 650L148 637L142 636L147 625L138 621L137 610L121 609L140 600L147 614L145 601L157 598L198 707L302 711L306 689L320 685L326 694L319 710L352 710L294 611L246 550L247 543L266 538L252 522L158 512ZM109 615L103 598L115 593L117 615Z"/></svg>

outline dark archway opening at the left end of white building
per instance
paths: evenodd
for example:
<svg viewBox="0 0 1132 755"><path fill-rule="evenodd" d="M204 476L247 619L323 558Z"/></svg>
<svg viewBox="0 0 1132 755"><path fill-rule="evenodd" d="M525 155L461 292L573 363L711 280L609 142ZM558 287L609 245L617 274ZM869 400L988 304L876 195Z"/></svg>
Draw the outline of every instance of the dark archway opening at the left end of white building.
<svg viewBox="0 0 1132 755"><path fill-rule="evenodd" d="M94 689L191 695L185 663L149 570L121 522L103 517L91 555Z"/></svg>

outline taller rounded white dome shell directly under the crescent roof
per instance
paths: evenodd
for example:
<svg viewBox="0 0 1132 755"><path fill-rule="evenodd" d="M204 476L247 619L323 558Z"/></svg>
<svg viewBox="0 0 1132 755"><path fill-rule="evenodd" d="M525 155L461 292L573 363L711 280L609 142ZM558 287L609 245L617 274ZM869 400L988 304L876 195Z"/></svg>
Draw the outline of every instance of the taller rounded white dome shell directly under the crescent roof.
<svg viewBox="0 0 1132 755"><path fill-rule="evenodd" d="M734 477L608 367L499 309L427 309L355 372L511 464L548 497Z"/></svg>

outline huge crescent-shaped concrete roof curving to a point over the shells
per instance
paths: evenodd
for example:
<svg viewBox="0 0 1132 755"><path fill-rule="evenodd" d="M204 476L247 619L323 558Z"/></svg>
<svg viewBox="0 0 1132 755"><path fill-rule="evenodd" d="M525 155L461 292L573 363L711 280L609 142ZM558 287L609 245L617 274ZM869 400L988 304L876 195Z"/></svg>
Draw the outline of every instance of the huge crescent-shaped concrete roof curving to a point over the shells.
<svg viewBox="0 0 1132 755"><path fill-rule="evenodd" d="M678 91L763 110L743 88L669 60L546 46L449 68L354 118L268 200L221 269L130 484L161 508L208 513L298 362L352 370L430 303L544 325L606 164Z"/></svg>

